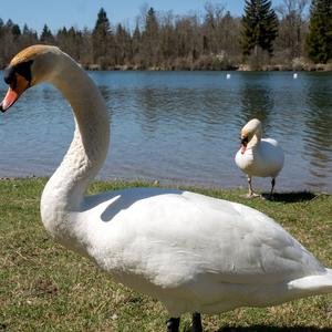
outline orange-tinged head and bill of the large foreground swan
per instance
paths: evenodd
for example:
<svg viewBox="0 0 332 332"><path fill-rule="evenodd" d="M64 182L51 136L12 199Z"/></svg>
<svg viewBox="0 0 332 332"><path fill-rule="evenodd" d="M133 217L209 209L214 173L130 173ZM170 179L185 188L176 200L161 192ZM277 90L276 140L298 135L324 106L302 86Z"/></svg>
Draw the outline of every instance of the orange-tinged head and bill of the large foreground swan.
<svg viewBox="0 0 332 332"><path fill-rule="evenodd" d="M9 89L0 111L6 112L27 89L48 81L48 76L54 72L54 56L60 52L55 46L33 45L18 53L3 71Z"/></svg>

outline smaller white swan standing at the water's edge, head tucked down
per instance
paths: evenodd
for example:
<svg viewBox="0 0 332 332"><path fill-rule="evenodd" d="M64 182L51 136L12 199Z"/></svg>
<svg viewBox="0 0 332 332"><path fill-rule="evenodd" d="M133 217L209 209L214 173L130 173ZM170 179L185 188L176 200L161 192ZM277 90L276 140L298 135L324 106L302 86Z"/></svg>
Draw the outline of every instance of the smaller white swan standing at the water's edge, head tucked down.
<svg viewBox="0 0 332 332"><path fill-rule="evenodd" d="M241 148L235 157L237 166L248 176L248 197L259 196L252 190L252 176L272 178L270 191L270 197L272 197L276 177L283 166L284 155L278 142L272 138L261 138L261 136L260 121L250 120L241 129Z"/></svg>

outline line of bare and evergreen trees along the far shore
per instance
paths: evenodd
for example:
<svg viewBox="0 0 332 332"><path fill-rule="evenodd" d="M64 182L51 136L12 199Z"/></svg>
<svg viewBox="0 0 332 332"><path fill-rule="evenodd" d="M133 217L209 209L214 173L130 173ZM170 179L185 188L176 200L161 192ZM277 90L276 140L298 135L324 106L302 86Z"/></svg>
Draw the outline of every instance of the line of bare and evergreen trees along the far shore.
<svg viewBox="0 0 332 332"><path fill-rule="evenodd" d="M332 0L271 4L247 0L241 18L211 2L187 15L146 7L132 29L112 24L101 9L93 29L52 32L45 24L40 35L27 24L21 29L0 19L0 66L34 43L59 45L92 70L308 70L332 61ZM266 18L260 18L264 11Z"/></svg>

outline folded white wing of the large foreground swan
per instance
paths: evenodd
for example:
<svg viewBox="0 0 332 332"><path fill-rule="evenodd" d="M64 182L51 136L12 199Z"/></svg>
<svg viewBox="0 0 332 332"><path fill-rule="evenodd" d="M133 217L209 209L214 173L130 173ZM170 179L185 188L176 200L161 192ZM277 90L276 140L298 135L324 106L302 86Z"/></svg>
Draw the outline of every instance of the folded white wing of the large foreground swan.
<svg viewBox="0 0 332 332"><path fill-rule="evenodd" d="M324 271L272 219L243 205L153 188L112 195L86 228L90 255L110 272L175 287L207 276L225 283L278 283Z"/></svg>

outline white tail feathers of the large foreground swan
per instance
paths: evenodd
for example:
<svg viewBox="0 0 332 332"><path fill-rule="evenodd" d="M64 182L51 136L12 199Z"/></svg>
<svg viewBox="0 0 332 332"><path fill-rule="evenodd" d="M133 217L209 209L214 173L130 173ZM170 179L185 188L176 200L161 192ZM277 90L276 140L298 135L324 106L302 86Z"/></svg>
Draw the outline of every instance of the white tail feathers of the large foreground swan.
<svg viewBox="0 0 332 332"><path fill-rule="evenodd" d="M332 293L332 269L326 269L326 273L309 276L292 280L288 283L289 289L299 293L326 294Z"/></svg>

